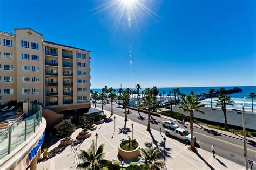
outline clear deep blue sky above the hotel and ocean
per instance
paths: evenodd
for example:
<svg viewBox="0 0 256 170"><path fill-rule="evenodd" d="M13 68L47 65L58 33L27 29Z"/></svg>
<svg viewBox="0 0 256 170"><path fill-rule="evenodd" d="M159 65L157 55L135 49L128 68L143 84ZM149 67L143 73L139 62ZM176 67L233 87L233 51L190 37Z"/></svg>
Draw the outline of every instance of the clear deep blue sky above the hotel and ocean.
<svg viewBox="0 0 256 170"><path fill-rule="evenodd" d="M0 0L0 30L90 50L91 88L255 86L256 1L137 0L156 15L137 6L131 26L114 1Z"/></svg>

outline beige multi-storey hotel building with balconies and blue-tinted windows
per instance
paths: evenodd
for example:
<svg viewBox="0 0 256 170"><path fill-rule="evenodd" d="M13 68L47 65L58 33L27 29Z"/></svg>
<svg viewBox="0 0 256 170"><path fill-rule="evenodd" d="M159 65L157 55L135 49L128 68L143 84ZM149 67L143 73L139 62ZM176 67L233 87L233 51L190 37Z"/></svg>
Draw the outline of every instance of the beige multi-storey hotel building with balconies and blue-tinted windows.
<svg viewBox="0 0 256 170"><path fill-rule="evenodd" d="M88 107L90 51L44 41L31 29L14 30L16 34L0 31L0 104L29 99L49 109Z"/></svg>

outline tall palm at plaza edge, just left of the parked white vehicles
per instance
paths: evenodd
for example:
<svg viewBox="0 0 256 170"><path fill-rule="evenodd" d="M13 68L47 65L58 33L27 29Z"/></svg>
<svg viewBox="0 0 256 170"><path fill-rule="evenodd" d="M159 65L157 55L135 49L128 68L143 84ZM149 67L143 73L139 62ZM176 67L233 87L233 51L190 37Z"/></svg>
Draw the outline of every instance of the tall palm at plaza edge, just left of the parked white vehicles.
<svg viewBox="0 0 256 170"><path fill-rule="evenodd" d="M142 98L142 105L147 108L147 131L151 131L150 130L150 112L151 109L154 108L157 105L156 99L154 97L154 95L152 94L146 94L143 98Z"/></svg>

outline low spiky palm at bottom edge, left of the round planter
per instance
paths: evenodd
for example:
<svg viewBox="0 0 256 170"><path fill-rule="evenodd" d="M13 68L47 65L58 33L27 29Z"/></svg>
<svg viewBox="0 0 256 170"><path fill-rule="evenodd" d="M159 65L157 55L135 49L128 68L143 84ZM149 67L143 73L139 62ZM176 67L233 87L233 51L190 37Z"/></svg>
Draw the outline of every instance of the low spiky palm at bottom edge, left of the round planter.
<svg viewBox="0 0 256 170"><path fill-rule="evenodd" d="M97 150L97 151L95 151ZM78 158L83 161L77 165L77 169L80 168L90 168L92 170L99 169L108 162L103 159L105 153L103 153L104 144L101 144L98 148L95 148L95 141L92 140L92 144L88 151L81 150L81 153L78 155Z"/></svg>

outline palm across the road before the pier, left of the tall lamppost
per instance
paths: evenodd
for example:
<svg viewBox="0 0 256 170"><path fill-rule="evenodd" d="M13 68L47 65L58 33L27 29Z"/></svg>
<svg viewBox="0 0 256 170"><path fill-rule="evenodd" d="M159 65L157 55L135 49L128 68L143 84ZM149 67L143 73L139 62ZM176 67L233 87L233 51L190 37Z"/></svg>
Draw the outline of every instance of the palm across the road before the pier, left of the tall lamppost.
<svg viewBox="0 0 256 170"><path fill-rule="evenodd" d="M216 106L217 107L221 107L221 110L223 111L224 113L224 118L225 118L225 129L227 129L227 110L226 110L226 106L227 105L233 105L234 101L231 100L231 97L230 96L227 96L226 94L222 94L220 95L218 98L217 98L217 103L216 103Z"/></svg>

